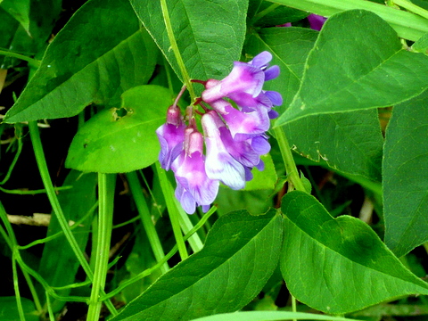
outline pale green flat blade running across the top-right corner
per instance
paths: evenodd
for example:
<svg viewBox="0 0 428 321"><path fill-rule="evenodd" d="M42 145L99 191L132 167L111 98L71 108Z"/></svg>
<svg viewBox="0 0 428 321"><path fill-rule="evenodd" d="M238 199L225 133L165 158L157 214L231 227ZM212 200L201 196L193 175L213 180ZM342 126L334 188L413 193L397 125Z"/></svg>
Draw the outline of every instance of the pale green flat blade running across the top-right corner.
<svg viewBox="0 0 428 321"><path fill-rule="evenodd" d="M416 41L428 33L428 21L414 13L397 10L383 4L366 0L269 0L302 11L330 17L346 10L362 9L376 13L395 29L399 37ZM396 2L397 3L397 2Z"/></svg>

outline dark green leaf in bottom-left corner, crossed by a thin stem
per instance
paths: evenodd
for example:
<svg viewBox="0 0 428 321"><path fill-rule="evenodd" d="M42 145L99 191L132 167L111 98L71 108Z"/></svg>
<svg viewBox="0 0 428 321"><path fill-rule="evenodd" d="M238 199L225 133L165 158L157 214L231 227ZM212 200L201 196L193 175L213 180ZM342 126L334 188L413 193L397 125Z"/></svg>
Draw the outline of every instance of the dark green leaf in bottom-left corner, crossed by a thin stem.
<svg viewBox="0 0 428 321"><path fill-rule="evenodd" d="M22 309L26 321L38 321L37 310L32 300L21 297ZM2 321L16 321L20 319L15 297L0 297L0 316Z"/></svg>

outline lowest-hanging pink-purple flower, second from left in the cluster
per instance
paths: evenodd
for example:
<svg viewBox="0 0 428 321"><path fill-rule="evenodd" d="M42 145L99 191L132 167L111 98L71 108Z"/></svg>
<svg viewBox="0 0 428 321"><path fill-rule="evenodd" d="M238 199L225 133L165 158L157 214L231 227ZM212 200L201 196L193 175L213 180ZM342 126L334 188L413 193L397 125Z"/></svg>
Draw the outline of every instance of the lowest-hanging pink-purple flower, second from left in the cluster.
<svg viewBox="0 0 428 321"><path fill-rule="evenodd" d="M185 129L185 148L173 162L177 180L176 197L192 214L198 205L209 206L217 196L218 180L207 176L203 156L203 137L194 127Z"/></svg>

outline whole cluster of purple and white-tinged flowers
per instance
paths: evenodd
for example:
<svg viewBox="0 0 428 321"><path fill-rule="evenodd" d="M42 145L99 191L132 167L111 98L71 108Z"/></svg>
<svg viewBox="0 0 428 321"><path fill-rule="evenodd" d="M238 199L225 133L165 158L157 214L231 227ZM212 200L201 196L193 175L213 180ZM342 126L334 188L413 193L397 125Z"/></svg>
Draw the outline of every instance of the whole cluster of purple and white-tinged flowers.
<svg viewBox="0 0 428 321"><path fill-rule="evenodd" d="M196 206L207 211L219 182L242 189L252 179L252 168L264 169L260 156L270 151L266 131L270 119L278 116L273 108L283 103L279 93L263 90L265 81L279 75L278 66L269 67L271 60L271 53L259 53L251 62L234 62L233 70L222 80L196 81L205 86L198 101L205 111L203 136L196 127L193 108L187 109L185 125L177 103L169 107L167 123L156 130L161 167L174 171L176 197L187 213L192 214Z"/></svg>

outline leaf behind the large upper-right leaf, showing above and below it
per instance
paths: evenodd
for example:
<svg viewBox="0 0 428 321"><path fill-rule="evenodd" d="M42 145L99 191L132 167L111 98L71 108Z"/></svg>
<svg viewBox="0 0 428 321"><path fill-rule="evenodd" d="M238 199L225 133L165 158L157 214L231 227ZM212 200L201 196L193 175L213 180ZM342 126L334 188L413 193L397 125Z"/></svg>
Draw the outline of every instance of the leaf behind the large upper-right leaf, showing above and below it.
<svg viewBox="0 0 428 321"><path fill-rule="evenodd" d="M318 32L302 28L269 28L251 35L245 46L249 53L268 50L281 68L277 80L265 87L283 95L284 105L292 102L303 75L304 63ZM284 107L276 108L284 111ZM284 126L295 152L312 161L327 161L341 172L380 180L383 136L376 111L314 115Z"/></svg>

